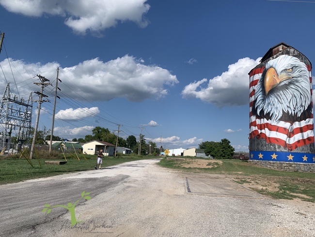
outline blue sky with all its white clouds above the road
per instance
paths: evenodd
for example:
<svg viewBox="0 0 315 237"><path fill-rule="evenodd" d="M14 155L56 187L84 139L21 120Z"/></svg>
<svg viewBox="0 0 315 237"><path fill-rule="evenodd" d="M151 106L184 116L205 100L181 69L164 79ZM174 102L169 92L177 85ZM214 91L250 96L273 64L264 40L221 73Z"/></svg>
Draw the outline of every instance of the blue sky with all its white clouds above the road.
<svg viewBox="0 0 315 237"><path fill-rule="evenodd" d="M315 62L314 3L0 0L0 89L9 82L26 99L39 90L36 74L55 85L59 67L54 135L122 124L120 136L138 137L142 125L168 149L227 138L248 151L248 72L280 42ZM51 128L53 89L41 130Z"/></svg>

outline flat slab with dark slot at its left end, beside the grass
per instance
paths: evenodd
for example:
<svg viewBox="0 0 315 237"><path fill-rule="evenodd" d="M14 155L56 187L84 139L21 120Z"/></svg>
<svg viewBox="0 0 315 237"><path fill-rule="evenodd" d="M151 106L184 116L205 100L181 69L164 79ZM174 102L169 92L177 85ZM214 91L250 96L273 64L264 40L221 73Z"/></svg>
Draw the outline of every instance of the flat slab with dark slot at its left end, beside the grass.
<svg viewBox="0 0 315 237"><path fill-rule="evenodd" d="M185 178L187 193L224 197L264 198L260 194L227 179L190 176Z"/></svg>

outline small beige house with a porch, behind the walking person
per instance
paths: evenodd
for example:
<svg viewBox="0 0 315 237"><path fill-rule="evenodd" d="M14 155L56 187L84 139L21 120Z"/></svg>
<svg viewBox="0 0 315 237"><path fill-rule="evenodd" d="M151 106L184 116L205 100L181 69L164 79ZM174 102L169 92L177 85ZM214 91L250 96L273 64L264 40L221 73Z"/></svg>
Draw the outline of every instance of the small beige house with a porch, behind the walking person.
<svg viewBox="0 0 315 237"><path fill-rule="evenodd" d="M103 149L104 156L113 156L115 145L110 144L105 141L89 141L87 143L82 144L83 153L94 155L101 149Z"/></svg>

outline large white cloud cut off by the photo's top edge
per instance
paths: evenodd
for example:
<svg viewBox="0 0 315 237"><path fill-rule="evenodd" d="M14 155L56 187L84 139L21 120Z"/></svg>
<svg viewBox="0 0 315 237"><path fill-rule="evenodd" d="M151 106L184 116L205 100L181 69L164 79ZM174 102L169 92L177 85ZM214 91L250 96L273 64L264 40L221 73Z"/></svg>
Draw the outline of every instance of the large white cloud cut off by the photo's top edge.
<svg viewBox="0 0 315 237"><path fill-rule="evenodd" d="M146 27L149 21L143 17L150 5L147 0L0 0L9 12L28 17L53 15L65 18L64 24L75 32L100 32L116 26L118 22L133 21Z"/></svg>

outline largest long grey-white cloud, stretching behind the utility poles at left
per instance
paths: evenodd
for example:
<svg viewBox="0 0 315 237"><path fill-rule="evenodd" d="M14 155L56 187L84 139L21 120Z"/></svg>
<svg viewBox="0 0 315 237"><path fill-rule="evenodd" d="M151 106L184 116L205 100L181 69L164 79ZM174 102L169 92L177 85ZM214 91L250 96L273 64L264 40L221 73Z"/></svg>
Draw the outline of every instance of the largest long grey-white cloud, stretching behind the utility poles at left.
<svg viewBox="0 0 315 237"><path fill-rule="evenodd" d="M63 92L62 96L69 96L79 101L110 101L119 97L133 102L160 99L168 94L166 86L178 83L176 76L167 69L144 65L141 60L129 55L108 62L94 58L69 68L62 68L58 63L42 65L29 64L12 58L9 60L11 66L18 71L16 84L20 94L39 90L38 86L33 84L38 78L35 77L33 81L27 80L30 75L33 76L39 72L43 76L51 75L58 67L60 68L59 78L62 80L59 85ZM14 83L8 60L3 60L0 64L4 74L7 75L6 80ZM75 81L72 81L74 79ZM0 86L5 88L4 79L0 79ZM11 88L15 89L15 86Z"/></svg>

